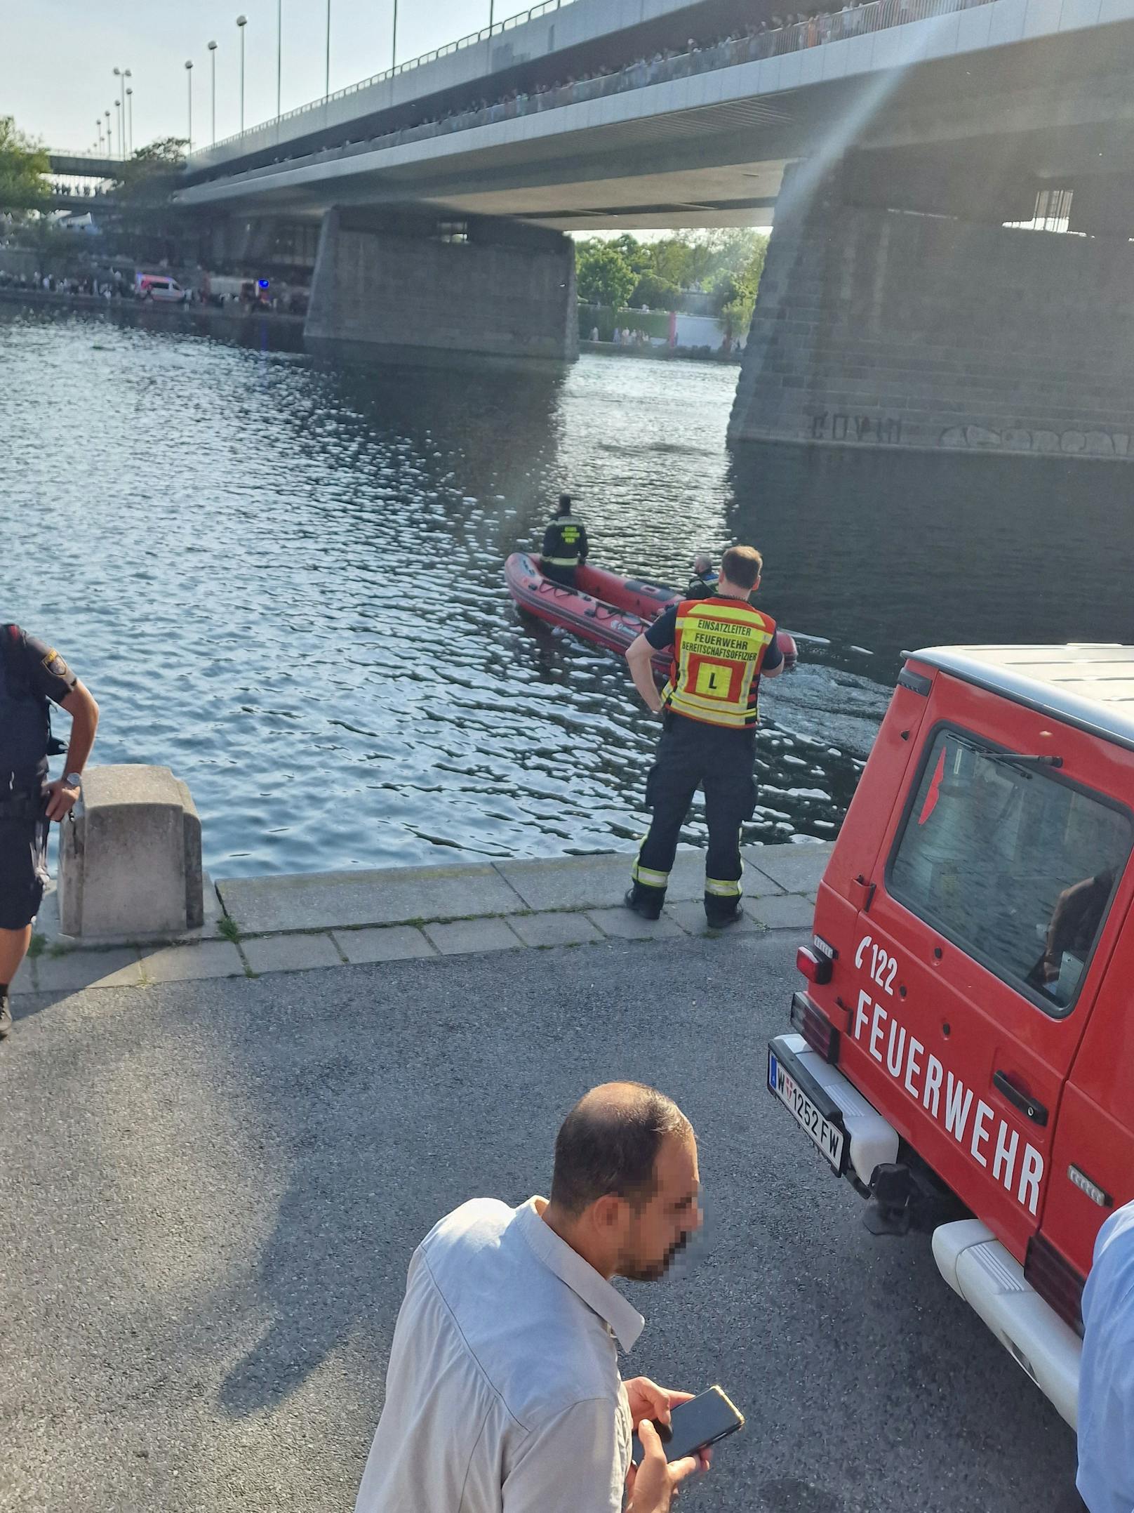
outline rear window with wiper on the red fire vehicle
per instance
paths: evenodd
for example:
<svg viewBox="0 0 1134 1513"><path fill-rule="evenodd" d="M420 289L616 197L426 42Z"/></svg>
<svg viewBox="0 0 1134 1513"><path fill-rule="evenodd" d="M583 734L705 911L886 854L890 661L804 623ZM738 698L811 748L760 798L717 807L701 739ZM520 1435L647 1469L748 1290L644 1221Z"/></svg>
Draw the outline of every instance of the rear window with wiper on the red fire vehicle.
<svg viewBox="0 0 1134 1513"><path fill-rule="evenodd" d="M1048 767L937 731L891 859L891 894L1049 1011L1075 1002L1131 820Z"/></svg>

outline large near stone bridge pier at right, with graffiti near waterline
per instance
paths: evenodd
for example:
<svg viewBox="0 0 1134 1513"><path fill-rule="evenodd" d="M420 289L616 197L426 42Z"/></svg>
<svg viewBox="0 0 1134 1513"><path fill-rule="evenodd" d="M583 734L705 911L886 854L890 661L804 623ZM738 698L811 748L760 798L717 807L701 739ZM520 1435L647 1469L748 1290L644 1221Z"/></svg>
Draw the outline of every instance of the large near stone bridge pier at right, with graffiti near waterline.
<svg viewBox="0 0 1134 1513"><path fill-rule="evenodd" d="M1083 235L1005 224L1037 209ZM792 165L729 442L1132 458L1131 235L1117 177L916 151Z"/></svg>

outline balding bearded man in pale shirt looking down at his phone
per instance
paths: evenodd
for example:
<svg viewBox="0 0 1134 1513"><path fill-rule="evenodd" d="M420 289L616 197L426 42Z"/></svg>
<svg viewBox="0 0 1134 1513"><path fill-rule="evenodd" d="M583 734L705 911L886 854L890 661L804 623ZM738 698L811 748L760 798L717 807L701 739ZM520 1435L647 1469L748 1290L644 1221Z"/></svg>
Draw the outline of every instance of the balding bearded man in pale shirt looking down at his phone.
<svg viewBox="0 0 1134 1513"><path fill-rule="evenodd" d="M677 1104L591 1089L559 1129L550 1201L473 1198L414 1251L355 1513L620 1513L626 1496L667 1513L709 1459L665 1463L650 1419L689 1393L621 1381L644 1319L611 1277L656 1280L700 1223Z"/></svg>

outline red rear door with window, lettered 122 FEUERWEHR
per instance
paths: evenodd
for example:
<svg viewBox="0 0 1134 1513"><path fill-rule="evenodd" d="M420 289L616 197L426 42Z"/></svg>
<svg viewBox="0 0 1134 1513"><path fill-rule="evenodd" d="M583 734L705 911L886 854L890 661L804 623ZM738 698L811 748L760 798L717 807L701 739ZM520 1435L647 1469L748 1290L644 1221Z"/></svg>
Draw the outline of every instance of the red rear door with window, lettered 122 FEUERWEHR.
<svg viewBox="0 0 1134 1513"><path fill-rule="evenodd" d="M1128 902L1134 826L1113 796L1131 758L942 672L921 729L859 915L842 1059L1024 1260Z"/></svg>

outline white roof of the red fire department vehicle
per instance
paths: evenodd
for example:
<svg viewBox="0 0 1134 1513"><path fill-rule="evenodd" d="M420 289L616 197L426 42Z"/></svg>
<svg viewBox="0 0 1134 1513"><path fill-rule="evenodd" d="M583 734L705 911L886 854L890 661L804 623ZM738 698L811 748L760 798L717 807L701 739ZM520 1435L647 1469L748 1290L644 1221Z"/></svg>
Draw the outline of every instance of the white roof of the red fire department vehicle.
<svg viewBox="0 0 1134 1513"><path fill-rule="evenodd" d="M1134 750L1134 646L930 646L909 655Z"/></svg>

